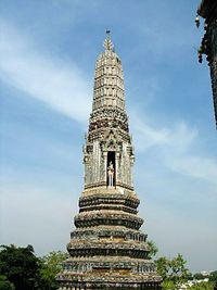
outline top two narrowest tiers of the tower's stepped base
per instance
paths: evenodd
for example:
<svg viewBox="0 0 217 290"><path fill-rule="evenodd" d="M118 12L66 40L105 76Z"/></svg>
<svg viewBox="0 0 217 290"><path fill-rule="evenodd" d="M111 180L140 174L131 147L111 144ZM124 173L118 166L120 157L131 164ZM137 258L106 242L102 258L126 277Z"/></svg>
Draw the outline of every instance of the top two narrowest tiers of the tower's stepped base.
<svg viewBox="0 0 217 290"><path fill-rule="evenodd" d="M118 189L86 192L79 199L79 214L75 216L77 228L94 226L124 226L139 229L143 219L137 216L139 200L133 192L119 193Z"/></svg>

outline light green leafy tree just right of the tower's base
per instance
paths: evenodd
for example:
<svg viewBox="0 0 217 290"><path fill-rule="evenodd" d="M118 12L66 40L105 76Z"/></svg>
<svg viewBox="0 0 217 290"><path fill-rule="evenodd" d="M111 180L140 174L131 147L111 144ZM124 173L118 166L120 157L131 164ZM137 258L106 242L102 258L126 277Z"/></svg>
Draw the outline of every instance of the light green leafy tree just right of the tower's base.
<svg viewBox="0 0 217 290"><path fill-rule="evenodd" d="M181 254L178 254L173 260L165 256L156 260L157 273L163 278L163 289L177 289L178 286L186 282L189 278L189 270L186 268L187 261Z"/></svg>

